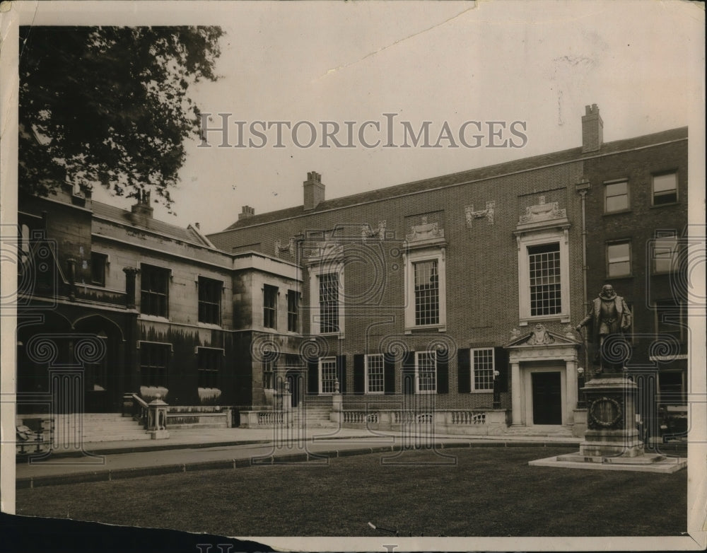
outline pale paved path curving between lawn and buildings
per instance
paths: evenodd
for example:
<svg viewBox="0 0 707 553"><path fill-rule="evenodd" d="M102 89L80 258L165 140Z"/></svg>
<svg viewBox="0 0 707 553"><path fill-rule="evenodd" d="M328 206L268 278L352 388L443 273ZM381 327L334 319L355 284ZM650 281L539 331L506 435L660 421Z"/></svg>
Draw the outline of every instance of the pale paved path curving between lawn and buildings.
<svg viewBox="0 0 707 553"><path fill-rule="evenodd" d="M391 452L402 446L443 452L457 447L566 446L580 438L539 436L416 436L395 431L309 428L282 435L274 429L175 430L165 440L86 443L73 455L29 458L16 465L18 487L122 479L209 468L247 467L260 462L317 462L327 456ZM317 456L317 454L320 454Z"/></svg>

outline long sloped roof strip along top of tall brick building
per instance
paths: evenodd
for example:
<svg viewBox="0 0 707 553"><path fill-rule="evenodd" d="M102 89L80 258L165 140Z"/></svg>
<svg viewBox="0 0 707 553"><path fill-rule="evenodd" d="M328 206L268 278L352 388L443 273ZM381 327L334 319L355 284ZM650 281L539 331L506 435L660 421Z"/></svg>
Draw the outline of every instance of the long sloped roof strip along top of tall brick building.
<svg viewBox="0 0 707 553"><path fill-rule="evenodd" d="M209 240L216 239L216 243L221 243L223 240L219 240L219 235L229 233L230 231L239 228L247 228L249 226L255 226L263 223L281 221L282 219L289 219L291 217L300 215L314 214L320 211L327 211L329 209L341 209L343 207L352 206L363 202L375 202L382 199L396 197L401 194L410 194L412 192L423 192L424 190L433 190L435 188L454 185L461 182L481 180L489 177L495 177L498 175L504 175L507 173L517 173L524 170L539 168L544 165L568 163L570 161L578 161L581 159L592 158L595 156L611 155L612 153L643 148L645 146L652 146L655 144L660 144L662 142L684 139L686 137L687 127L679 127L677 129L670 129L667 131L657 132L653 134L636 136L630 139L607 142L605 144L602 144L602 148L600 151L596 152L582 153L582 148L578 147L553 153L544 153L539 156L522 158L516 161L506 161L505 163L488 165L486 167L462 171L460 173L452 173L450 175L443 175L440 177L433 177L425 180L407 182L402 185L394 185L390 187L380 188L378 190L370 190L368 192L361 192L359 194L351 194L350 196L327 199L324 202L321 202L315 209L310 209L308 211L305 211L304 206L300 205L288 207L286 209L279 209L278 211L269 211L267 213L253 215L248 217L247 219L236 221L221 232L209 234L207 238L209 238Z"/></svg>

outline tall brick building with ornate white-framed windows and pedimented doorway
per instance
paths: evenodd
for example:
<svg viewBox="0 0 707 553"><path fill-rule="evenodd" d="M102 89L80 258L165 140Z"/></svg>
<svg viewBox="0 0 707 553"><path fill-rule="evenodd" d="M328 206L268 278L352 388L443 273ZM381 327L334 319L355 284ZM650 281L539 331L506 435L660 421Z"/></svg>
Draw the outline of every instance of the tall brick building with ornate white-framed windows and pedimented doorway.
<svg viewBox="0 0 707 553"><path fill-rule="evenodd" d="M683 310L671 283L686 225L687 131L605 144L596 105L582 123L573 149L337 199L325 199L312 172L303 205L244 207L209 239L302 267L302 332L317 354L303 360L307 390L338 384L344 410L488 409L498 373L513 425L571 426L591 367L573 327L604 282L636 311L631 370L650 368L681 403L685 330L672 318ZM658 303L646 300L653 293ZM679 352L650 354L673 324Z"/></svg>

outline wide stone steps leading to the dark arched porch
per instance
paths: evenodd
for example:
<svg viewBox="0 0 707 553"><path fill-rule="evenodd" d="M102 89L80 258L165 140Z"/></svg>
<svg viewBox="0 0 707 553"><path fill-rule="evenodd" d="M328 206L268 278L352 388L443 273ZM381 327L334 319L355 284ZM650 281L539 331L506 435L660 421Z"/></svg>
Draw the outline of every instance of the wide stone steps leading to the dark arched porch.
<svg viewBox="0 0 707 553"><path fill-rule="evenodd" d="M80 417L80 418L79 418ZM57 415L54 422L55 442L71 442L81 431L83 443L149 440L150 434L131 417L118 413L84 413L83 415Z"/></svg>

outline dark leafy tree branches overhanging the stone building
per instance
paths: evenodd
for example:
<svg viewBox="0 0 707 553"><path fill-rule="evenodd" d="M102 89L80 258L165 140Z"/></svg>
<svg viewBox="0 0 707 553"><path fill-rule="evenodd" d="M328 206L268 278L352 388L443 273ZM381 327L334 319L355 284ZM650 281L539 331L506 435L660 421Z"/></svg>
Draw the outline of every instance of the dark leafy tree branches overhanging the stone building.
<svg viewBox="0 0 707 553"><path fill-rule="evenodd" d="M19 187L138 197L170 187L199 132L189 86L216 80L218 27L22 27Z"/></svg>

